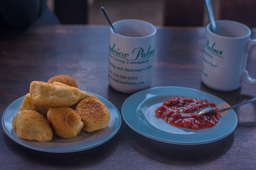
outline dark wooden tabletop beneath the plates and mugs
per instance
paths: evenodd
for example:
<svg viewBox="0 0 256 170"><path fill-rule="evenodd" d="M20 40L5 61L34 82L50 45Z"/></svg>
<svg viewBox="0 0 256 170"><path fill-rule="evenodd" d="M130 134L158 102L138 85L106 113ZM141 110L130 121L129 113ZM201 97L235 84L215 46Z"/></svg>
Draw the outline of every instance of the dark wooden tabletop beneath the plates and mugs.
<svg viewBox="0 0 256 170"><path fill-rule="evenodd" d="M201 83L204 27L157 27L152 87L184 86L214 94L230 105L256 97L256 85L214 91ZM256 29L252 29L256 38ZM29 92L31 81L73 76L84 91L103 96L121 109L131 94L115 91L107 80L108 26L55 25L25 32L0 31L0 115ZM256 77L256 48L247 69ZM218 80L216 80L218 81ZM228 137L204 145L172 145L134 132L124 121L104 144L74 153L31 150L11 140L0 127L0 169L255 169L256 103L235 109L238 126Z"/></svg>

